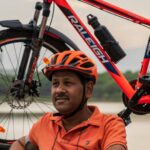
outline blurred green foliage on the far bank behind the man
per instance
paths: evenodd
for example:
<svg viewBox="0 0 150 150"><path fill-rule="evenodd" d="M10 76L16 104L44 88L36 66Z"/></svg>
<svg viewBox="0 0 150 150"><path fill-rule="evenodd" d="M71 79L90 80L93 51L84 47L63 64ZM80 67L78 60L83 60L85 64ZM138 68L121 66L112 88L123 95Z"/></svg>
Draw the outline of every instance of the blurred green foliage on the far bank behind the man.
<svg viewBox="0 0 150 150"><path fill-rule="evenodd" d="M126 71L124 76L129 81L132 81L136 79L137 72ZM11 79L12 77L9 76L8 78ZM42 97L49 97L51 83L41 74L40 79L42 81L40 95ZM6 82L4 82L5 80L7 80L6 77L0 77L0 96L5 95L7 93L6 90L9 88L9 85L6 85ZM94 87L93 99L95 101L122 101L121 89L107 72L98 75L98 81Z"/></svg>

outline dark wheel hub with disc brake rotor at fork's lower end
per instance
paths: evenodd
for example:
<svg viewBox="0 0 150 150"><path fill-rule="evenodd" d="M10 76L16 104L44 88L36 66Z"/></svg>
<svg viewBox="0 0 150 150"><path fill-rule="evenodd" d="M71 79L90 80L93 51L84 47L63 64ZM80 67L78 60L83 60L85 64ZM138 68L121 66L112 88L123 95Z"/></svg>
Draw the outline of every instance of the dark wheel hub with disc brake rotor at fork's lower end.
<svg viewBox="0 0 150 150"><path fill-rule="evenodd" d="M13 109L27 108L33 102L34 97L39 96L37 87L37 81L34 80L31 84L23 80L14 80L7 95L8 105Z"/></svg>

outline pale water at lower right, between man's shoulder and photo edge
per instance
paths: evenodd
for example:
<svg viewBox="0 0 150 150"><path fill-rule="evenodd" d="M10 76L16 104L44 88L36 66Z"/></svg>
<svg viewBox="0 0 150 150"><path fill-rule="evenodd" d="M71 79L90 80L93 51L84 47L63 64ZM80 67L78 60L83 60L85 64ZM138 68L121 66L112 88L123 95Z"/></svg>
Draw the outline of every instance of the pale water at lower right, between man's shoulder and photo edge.
<svg viewBox="0 0 150 150"><path fill-rule="evenodd" d="M126 130L129 150L150 149L150 116L133 118Z"/></svg>

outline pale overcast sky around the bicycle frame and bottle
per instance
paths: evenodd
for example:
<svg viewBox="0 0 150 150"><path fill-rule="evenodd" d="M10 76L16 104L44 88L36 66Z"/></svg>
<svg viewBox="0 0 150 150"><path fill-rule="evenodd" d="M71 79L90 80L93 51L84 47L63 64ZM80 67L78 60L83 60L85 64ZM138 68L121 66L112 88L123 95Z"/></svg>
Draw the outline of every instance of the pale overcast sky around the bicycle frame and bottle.
<svg viewBox="0 0 150 150"><path fill-rule="evenodd" d="M119 42L121 47L126 52L126 57L122 59L117 67L121 71L132 70L136 71L140 67L141 59L146 49L150 29L143 26L134 24L132 22L123 20L85 3L78 2L77 0L67 0L77 14L81 17L85 25L93 33L93 29L87 24L86 16L93 14L98 17L101 24L105 25L113 34L115 39ZM150 18L150 1L149 0L106 0L119 7L133 11ZM19 19L23 23L28 23L34 13L34 5L36 0L0 0L0 20ZM86 54L91 56L98 64L99 72L103 72L104 67L99 64L95 56L89 51L89 48L82 42L82 39L74 31L73 27L66 21L65 17L61 14L60 10L56 9L55 18L52 26L59 31L69 36ZM2 28L0 28L2 29ZM149 69L150 70L150 69Z"/></svg>

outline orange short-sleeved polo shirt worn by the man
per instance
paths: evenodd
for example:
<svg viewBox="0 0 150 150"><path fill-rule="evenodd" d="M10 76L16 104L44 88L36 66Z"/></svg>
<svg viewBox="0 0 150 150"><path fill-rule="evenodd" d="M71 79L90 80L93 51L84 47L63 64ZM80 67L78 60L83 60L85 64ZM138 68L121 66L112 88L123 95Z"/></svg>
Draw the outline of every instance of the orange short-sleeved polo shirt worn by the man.
<svg viewBox="0 0 150 150"><path fill-rule="evenodd" d="M101 113L89 106L91 117L66 131L61 116L46 113L36 122L29 138L39 150L107 150L111 145L126 146L125 126L121 118Z"/></svg>

